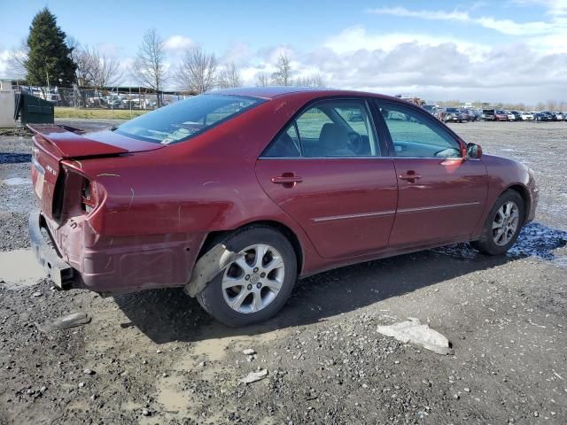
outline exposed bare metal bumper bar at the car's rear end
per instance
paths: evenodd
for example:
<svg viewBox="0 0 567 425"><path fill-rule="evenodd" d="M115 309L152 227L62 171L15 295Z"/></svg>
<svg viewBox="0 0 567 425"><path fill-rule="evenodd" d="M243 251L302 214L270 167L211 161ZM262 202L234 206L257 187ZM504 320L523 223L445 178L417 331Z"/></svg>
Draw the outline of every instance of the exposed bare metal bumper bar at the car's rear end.
<svg viewBox="0 0 567 425"><path fill-rule="evenodd" d="M69 290L74 286L76 272L61 257L52 243L48 243L42 234L44 220L39 209L29 214L29 240L35 253L35 258L45 270L50 280L59 290Z"/></svg>

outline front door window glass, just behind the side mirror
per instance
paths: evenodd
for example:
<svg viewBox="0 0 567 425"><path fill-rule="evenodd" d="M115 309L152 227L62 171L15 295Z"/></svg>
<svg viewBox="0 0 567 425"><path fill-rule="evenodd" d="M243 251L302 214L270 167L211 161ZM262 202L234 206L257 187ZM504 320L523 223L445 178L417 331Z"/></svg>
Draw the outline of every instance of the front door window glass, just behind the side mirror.
<svg viewBox="0 0 567 425"><path fill-rule="evenodd" d="M461 158L462 151L454 137L403 105L378 105L392 136L397 157Z"/></svg>

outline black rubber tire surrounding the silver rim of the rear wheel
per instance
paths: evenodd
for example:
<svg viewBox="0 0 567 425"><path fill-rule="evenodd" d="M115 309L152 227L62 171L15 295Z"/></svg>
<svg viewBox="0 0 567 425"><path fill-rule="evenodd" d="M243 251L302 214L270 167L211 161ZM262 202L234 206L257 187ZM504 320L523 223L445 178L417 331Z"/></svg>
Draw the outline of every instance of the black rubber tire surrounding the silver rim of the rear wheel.
<svg viewBox="0 0 567 425"><path fill-rule="evenodd" d="M282 256L284 265L283 283L276 297L264 308L254 313L239 313L233 310L224 299L222 279L224 272L214 278L197 295L198 303L214 319L225 325L237 328L267 321L273 317L290 297L297 279L297 257L290 241L275 228L264 225L252 225L226 236L222 241L230 251L239 252L246 247L263 243L274 247ZM244 288L243 288L244 289Z"/></svg>

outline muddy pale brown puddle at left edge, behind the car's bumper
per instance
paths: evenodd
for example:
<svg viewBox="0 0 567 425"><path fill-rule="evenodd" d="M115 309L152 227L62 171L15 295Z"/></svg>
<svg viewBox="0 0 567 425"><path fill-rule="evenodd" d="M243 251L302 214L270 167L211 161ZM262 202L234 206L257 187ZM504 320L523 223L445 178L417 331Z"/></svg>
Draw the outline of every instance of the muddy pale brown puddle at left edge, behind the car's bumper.
<svg viewBox="0 0 567 425"><path fill-rule="evenodd" d="M43 268L31 250L0 252L0 281L8 290L32 286L45 277Z"/></svg>

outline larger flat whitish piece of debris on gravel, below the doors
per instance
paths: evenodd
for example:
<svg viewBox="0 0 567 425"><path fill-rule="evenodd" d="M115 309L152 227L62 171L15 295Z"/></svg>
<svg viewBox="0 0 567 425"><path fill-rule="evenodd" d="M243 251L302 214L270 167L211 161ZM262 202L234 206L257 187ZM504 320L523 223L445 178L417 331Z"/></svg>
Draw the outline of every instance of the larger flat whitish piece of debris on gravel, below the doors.
<svg viewBox="0 0 567 425"><path fill-rule="evenodd" d="M445 336L414 317L409 317L408 321L401 321L390 326L378 326L377 330L382 335L392 336L404 344L420 345L439 354L454 353L449 340Z"/></svg>

